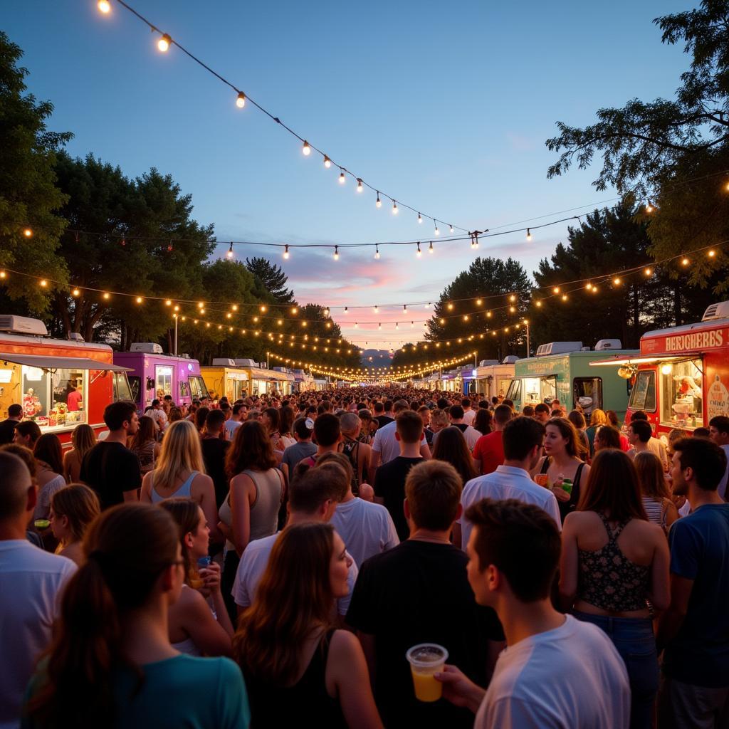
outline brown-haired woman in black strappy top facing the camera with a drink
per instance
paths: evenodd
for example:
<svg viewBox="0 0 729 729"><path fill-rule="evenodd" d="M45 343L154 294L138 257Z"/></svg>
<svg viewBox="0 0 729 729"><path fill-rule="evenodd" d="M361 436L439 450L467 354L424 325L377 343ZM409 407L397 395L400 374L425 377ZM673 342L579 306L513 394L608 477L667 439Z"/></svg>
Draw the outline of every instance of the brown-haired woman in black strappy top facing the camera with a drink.
<svg viewBox="0 0 729 729"><path fill-rule="evenodd" d="M567 418L550 418L546 425L545 456L539 460L534 473L546 473L548 488L555 495L562 521L577 508L580 493L590 474L585 463L585 447L577 429ZM569 488L562 488L569 486Z"/></svg>

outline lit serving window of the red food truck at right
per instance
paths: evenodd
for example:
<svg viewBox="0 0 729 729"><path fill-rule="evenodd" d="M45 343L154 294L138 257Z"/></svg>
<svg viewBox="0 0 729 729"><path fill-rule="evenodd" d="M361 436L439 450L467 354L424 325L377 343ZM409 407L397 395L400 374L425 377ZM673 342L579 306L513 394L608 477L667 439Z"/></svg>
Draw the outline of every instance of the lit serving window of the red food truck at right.
<svg viewBox="0 0 729 729"><path fill-rule="evenodd" d="M659 364L660 422L674 427L694 427L703 423L703 376L701 361Z"/></svg>

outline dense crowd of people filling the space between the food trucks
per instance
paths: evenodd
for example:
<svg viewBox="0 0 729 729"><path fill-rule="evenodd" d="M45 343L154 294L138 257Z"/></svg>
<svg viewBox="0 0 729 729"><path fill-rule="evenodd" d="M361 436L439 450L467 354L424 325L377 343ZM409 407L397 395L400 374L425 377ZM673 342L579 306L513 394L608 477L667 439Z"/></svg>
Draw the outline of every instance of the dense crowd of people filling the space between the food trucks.
<svg viewBox="0 0 729 729"><path fill-rule="evenodd" d="M725 416L389 385L104 421L0 422L0 729L729 726Z"/></svg>

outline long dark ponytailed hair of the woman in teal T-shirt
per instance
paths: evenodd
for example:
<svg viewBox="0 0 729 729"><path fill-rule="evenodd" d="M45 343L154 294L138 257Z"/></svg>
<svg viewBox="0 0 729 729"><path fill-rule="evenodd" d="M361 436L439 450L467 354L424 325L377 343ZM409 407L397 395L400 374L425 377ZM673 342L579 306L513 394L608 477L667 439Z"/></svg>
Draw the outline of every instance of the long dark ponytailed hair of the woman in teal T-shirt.
<svg viewBox="0 0 729 729"><path fill-rule="evenodd" d="M44 681L28 701L31 723L74 729L114 723L112 671L129 665L122 618L149 600L160 574L177 563L178 545L176 523L152 504L119 504L91 524L86 562L63 590ZM140 666L130 667L144 679Z"/></svg>

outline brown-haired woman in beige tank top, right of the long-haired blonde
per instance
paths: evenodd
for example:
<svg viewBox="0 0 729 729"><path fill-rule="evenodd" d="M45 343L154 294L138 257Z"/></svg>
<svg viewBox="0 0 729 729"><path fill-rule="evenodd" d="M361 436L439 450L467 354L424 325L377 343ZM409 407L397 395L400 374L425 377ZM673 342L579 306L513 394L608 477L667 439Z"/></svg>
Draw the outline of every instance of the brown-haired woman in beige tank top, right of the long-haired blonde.
<svg viewBox="0 0 729 729"><path fill-rule="evenodd" d="M230 491L218 512L219 529L227 537L222 589L230 619L235 620L230 588L238 562L248 542L276 533L284 499L284 476L276 468L273 445L259 421L246 421L235 431L225 470Z"/></svg>

